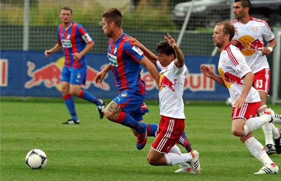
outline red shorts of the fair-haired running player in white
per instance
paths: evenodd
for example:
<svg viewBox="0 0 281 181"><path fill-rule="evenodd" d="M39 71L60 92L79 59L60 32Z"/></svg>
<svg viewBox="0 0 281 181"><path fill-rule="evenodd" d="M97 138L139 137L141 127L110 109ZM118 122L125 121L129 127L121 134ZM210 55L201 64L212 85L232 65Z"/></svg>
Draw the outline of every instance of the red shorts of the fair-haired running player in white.
<svg viewBox="0 0 281 181"><path fill-rule="evenodd" d="M232 107L232 120L238 118L248 120L249 118L254 117L257 109L260 107L260 103L261 102L245 102L241 108Z"/></svg>

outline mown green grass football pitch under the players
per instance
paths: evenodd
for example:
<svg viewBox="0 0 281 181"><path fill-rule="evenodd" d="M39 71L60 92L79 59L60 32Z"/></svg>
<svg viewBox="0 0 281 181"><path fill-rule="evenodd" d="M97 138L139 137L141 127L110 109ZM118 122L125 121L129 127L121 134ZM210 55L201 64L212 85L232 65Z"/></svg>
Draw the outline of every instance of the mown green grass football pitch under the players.
<svg viewBox="0 0 281 181"><path fill-rule="evenodd" d="M61 99L1 99L1 180L280 180L280 173L254 175L262 167L231 133L231 106L224 102L185 105L185 132L200 152L201 174L175 173L175 166L152 166L128 127L99 119L96 106L75 99L80 124L62 124L69 113ZM109 101L107 101L108 103ZM149 123L159 123L159 106L147 101ZM280 105L268 105L281 113ZM275 124L277 127L281 127ZM254 136L264 145L262 129ZM186 150L178 145L182 152ZM26 154L42 149L44 169L30 169ZM270 155L281 172L281 154Z"/></svg>

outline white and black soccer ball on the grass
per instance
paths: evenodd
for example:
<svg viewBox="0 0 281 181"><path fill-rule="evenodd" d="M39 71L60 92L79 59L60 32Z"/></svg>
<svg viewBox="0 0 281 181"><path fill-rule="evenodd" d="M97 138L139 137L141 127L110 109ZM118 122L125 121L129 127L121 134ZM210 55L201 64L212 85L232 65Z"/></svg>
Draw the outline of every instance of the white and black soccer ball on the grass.
<svg viewBox="0 0 281 181"><path fill-rule="evenodd" d="M32 169L44 168L47 164L47 155L41 149L32 149L26 155L26 164Z"/></svg>

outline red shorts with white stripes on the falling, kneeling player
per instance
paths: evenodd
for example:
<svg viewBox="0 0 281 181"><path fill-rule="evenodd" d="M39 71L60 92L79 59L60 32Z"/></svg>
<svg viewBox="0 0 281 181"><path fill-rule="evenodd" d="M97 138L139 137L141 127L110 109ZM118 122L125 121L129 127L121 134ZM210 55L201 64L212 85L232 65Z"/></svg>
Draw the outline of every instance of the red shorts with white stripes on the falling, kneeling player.
<svg viewBox="0 0 281 181"><path fill-rule="evenodd" d="M160 153L168 153L180 139L185 128L185 119L177 119L161 115L157 137L152 148Z"/></svg>

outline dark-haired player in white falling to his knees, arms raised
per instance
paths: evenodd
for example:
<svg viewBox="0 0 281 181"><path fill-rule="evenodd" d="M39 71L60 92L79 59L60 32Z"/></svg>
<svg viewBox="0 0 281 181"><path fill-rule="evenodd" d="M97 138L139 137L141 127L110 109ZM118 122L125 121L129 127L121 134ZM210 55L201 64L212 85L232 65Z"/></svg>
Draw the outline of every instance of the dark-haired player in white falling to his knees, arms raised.
<svg viewBox="0 0 281 181"><path fill-rule="evenodd" d="M183 91L186 66L184 55L177 46L175 39L167 33L164 41L157 45L156 56L133 37L126 37L126 41L133 41L144 51L145 55L161 69L159 87L159 106L161 120L157 137L148 153L148 162L152 165L180 164L180 169L175 172L199 174L201 167L199 153L196 150L182 154L175 145L181 139L185 128L185 114Z"/></svg>

